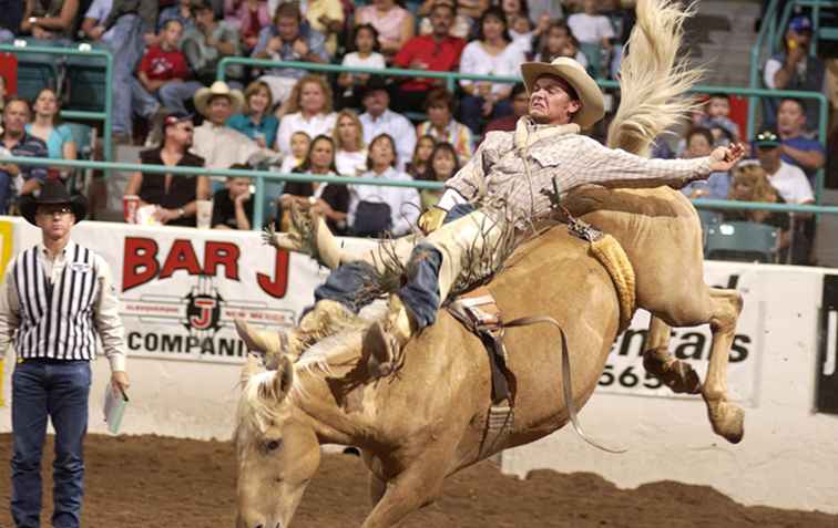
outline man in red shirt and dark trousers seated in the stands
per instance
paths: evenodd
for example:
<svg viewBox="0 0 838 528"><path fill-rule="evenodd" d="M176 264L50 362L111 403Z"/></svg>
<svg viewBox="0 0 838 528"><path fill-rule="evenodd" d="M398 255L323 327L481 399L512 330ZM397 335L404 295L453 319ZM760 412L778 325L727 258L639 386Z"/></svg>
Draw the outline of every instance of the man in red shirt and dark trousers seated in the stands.
<svg viewBox="0 0 838 528"><path fill-rule="evenodd" d="M392 59L398 68L428 70L432 72L451 72L460 68L460 55L466 41L451 37L456 8L449 3L437 2L430 13L433 32L410 39ZM425 96L435 86L443 86L441 79L410 79L398 89L394 99L400 111L425 107Z"/></svg>

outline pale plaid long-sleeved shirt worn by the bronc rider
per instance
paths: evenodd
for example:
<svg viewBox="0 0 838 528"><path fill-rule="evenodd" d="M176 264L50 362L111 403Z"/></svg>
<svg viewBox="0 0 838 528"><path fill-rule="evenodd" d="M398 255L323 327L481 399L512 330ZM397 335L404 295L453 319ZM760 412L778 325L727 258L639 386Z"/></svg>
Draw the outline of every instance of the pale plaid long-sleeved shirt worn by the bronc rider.
<svg viewBox="0 0 838 528"><path fill-rule="evenodd" d="M529 219L551 213L548 193L554 191L553 180L560 197L584 184L679 188L706 178L709 165L709 157L635 156L580 135L575 124L540 126L522 117L515 132L490 132L446 186L484 208L504 210L508 218L523 227Z"/></svg>

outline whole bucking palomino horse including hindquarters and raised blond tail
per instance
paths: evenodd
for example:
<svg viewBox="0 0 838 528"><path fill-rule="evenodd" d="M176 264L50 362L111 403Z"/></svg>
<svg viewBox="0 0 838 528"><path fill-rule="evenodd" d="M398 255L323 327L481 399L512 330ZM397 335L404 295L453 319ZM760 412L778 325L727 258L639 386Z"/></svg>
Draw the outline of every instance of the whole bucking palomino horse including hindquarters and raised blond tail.
<svg viewBox="0 0 838 528"><path fill-rule="evenodd" d="M676 59L689 15L673 0L637 2L637 24L621 68L622 102L609 146L636 154L692 104L698 77ZM644 365L676 392L701 393L713 429L743 436L743 411L728 402L726 366L742 298L704 283L702 231L692 204L668 187L580 187L563 199L574 216L615 238L634 270L624 293L591 245L565 225L519 246L487 288L504 319L551 324L505 330L513 420L492 424L493 373L484 343L441 310L406 346L391 375L369 369L362 322L264 371L249 358L235 433L241 528L287 528L317 472L321 444L357 446L369 467L372 510L364 528L397 525L432 503L448 475L566 425L597 386L614 340L634 306L652 313ZM359 320L360 321L360 320ZM667 351L670 327L709 323L702 383Z"/></svg>

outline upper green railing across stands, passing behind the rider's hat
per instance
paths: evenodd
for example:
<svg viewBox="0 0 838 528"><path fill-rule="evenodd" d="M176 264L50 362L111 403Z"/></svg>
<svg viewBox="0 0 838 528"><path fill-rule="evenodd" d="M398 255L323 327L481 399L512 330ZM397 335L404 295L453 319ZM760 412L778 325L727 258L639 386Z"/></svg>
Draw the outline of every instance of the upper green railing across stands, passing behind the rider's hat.
<svg viewBox="0 0 838 528"><path fill-rule="evenodd" d="M777 0L773 0L774 3L776 3ZM803 0L798 0L803 1ZM776 10L776 6L775 6ZM425 70L401 70L401 69L375 69L375 68L356 68L356 66L343 66L337 64L316 64L313 62L296 62L296 61L270 61L267 59L248 59L244 56L226 56L221 60L218 63L218 71L216 74L216 77L219 81L224 81L226 79L226 69L229 65L233 64L243 64L243 65L249 65L254 68L283 68L283 69L290 69L296 68L300 70L309 70L313 72L326 72L326 73L370 73L374 75L392 75L392 76L410 76L410 77L430 77L430 79L442 79L446 81L446 85L449 90L453 90L453 86L458 80L469 80L469 81L491 81L491 82L520 82L521 77L518 76L502 76L502 75L474 75L474 74L468 74L468 73L458 73L458 72L428 72ZM619 89L620 83L616 81L606 81L606 80L597 80L596 83L600 85L600 87L604 89ZM709 86L709 85L695 85L691 90L693 93L726 93L732 95L744 95L744 96L750 96L750 104L748 105L748 127L746 131L746 138L750 138L754 136L755 133L755 123L754 123L754 116L752 115L753 111L755 111L755 100L754 97L798 97L798 99L814 99L818 101L819 105L819 126L818 126L818 138L822 145L826 145L826 138L827 138L827 121L828 121L828 112L829 112L829 102L826 99L826 96L822 93L818 92L796 92L796 91L789 91L789 90L765 90L765 89L757 89L757 87L749 87L749 89L740 89L740 87L728 87L728 86ZM755 115L755 114L754 114ZM819 169L815 176L815 196L816 200L819 204L820 203L820 196L822 194L824 189L824 169Z"/></svg>

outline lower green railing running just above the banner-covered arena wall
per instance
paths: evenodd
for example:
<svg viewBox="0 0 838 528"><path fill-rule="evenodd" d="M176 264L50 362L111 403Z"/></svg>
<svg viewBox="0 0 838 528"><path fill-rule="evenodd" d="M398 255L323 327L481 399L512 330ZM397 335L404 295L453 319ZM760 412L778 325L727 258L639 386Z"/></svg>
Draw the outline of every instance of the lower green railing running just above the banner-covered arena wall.
<svg viewBox="0 0 838 528"><path fill-rule="evenodd" d="M314 174L285 174L274 173L270 170L244 170L244 169L209 169L203 167L168 167L164 165L137 165L130 163L111 163L111 162L79 162L71 159L50 159L33 157L8 157L4 163L16 165L33 166L65 166L75 168L93 168L100 170L121 170L121 172L142 172L150 174L172 174L175 176L235 176L254 178L256 182L256 194L254 199L254 229L259 229L264 224L264 210L262 196L265 189L265 180L282 182L323 182L338 185L375 185L380 187L413 187L417 189L441 189L443 184L439 182L419 182L419 180L388 180L378 178L360 178L350 176L320 176ZM714 200L714 199L694 199L693 204L702 209L744 209L744 210L773 210L780 213L809 213L809 214L828 214L838 215L838 206L817 206L817 205L789 205L789 204L769 204L757 201L734 201L734 200Z"/></svg>

